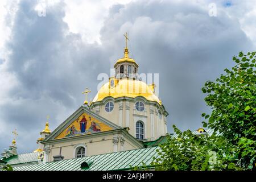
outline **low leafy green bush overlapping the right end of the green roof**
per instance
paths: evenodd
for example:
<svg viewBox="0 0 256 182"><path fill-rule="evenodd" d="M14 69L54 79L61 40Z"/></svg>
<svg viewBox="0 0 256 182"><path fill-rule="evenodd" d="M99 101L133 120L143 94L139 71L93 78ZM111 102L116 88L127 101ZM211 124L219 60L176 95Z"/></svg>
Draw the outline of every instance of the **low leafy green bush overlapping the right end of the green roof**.
<svg viewBox="0 0 256 182"><path fill-rule="evenodd" d="M181 132L173 126L176 136L168 136L167 143L160 145L159 158L152 166L161 171L205 171L228 169L225 150L229 143L222 137L196 135L190 130Z"/></svg>

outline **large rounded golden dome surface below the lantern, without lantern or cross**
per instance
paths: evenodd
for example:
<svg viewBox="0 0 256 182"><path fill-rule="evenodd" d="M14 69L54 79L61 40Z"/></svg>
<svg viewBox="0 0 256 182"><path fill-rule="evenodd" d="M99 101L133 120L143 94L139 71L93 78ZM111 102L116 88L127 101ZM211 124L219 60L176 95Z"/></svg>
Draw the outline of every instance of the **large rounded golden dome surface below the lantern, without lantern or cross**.
<svg viewBox="0 0 256 182"><path fill-rule="evenodd" d="M105 97L131 97L135 98L142 96L148 101L155 101L162 105L158 97L155 96L154 90L146 83L139 80L123 78L122 80L115 79L114 85L110 86L109 82L104 84L98 91L92 102L102 101Z"/></svg>

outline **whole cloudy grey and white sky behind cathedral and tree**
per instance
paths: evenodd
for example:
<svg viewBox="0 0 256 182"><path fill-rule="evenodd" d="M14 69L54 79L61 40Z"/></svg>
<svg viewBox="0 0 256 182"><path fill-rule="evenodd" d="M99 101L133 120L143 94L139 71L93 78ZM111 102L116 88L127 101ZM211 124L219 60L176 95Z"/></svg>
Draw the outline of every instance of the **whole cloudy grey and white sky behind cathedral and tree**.
<svg viewBox="0 0 256 182"><path fill-rule="evenodd" d="M53 131L123 56L159 73L167 129L201 127L210 113L201 91L238 52L255 51L256 1L0 1L0 150L17 129L19 154L37 148L46 116Z"/></svg>

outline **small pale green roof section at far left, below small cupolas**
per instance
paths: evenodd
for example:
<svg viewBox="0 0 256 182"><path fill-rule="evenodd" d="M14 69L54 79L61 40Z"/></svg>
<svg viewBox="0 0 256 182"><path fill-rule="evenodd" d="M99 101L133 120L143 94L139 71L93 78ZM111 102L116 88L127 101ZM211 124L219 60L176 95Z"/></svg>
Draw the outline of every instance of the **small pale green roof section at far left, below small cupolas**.
<svg viewBox="0 0 256 182"><path fill-rule="evenodd" d="M7 162L7 164L10 164L10 165L37 162L38 152L13 155L10 158L2 159L2 160Z"/></svg>

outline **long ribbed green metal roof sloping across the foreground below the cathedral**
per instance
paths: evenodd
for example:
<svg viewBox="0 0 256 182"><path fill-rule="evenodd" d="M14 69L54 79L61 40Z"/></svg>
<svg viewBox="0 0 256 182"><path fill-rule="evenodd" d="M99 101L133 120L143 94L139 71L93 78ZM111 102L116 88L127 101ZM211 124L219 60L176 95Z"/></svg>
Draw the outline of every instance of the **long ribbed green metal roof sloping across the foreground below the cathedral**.
<svg viewBox="0 0 256 182"><path fill-rule="evenodd" d="M159 147L149 147L137 150L113 152L109 154L85 156L48 162L44 164L31 164L29 166L14 167L15 171L109 171L129 170L135 166L150 166L153 157L158 158L156 150ZM89 168L81 169L82 163L88 163Z"/></svg>

